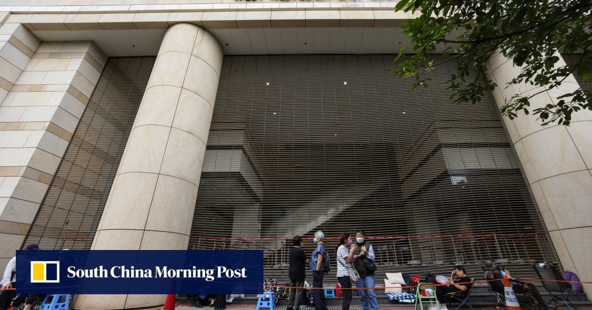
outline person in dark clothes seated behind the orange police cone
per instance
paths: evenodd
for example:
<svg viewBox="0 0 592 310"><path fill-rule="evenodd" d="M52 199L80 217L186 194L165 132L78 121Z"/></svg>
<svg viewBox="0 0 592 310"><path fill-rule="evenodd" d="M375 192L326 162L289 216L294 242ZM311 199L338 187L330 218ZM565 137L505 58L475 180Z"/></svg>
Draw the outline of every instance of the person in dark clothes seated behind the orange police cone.
<svg viewBox="0 0 592 310"><path fill-rule="evenodd" d="M502 279L503 276L507 276L508 278L512 279L512 277L510 276L510 272L508 270L500 270L496 266L496 263L493 262L493 260L486 259L484 260L483 264L485 265L486 280ZM488 283L491 289L493 289L497 293L500 293L502 296L505 295L504 283L502 281L490 281ZM543 300L542 296L540 296L539 290L536 289L536 286L534 284L512 279L510 285L512 286L512 290L514 291L514 293L524 294L530 292L532 296L536 299L536 302L539 304L539 309L551 309L545 304L545 301Z"/></svg>

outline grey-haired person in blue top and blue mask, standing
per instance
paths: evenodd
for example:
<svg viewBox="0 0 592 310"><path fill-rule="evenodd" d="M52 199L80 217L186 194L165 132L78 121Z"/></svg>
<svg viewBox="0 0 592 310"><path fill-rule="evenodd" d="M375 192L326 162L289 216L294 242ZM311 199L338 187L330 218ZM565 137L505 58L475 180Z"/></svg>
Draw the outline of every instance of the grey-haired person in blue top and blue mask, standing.
<svg viewBox="0 0 592 310"><path fill-rule="evenodd" d="M325 274L326 266L329 265L329 253L323 244L325 234L323 231L314 233L313 243L318 244L313 251L313 256L310 258L308 267L313 270L313 296L314 308L316 310L327 310L325 304L325 292L323 289L323 276Z"/></svg>

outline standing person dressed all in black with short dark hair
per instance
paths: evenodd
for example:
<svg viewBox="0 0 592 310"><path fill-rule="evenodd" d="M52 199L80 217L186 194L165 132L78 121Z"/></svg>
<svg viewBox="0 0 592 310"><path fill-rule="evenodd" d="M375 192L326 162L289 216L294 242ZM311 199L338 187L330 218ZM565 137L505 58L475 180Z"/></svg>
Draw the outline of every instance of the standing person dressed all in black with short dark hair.
<svg viewBox="0 0 592 310"><path fill-rule="evenodd" d="M290 289L290 295L288 297L288 308L286 310L294 310L294 305L298 308L300 305L305 304L304 295L304 279L306 278L306 270L304 266L308 265L308 259L304 250L302 249L302 237L294 236L292 239L292 249L290 250L290 267L288 276L290 277L290 286L297 288Z"/></svg>

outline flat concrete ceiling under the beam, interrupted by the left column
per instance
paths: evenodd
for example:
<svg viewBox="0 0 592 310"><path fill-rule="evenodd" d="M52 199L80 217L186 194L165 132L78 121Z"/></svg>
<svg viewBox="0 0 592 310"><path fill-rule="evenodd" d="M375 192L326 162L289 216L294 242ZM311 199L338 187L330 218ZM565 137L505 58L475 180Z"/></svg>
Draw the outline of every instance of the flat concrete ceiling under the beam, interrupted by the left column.
<svg viewBox="0 0 592 310"><path fill-rule="evenodd" d="M92 40L111 57L155 56L166 29L33 31L42 41ZM407 42L400 28L233 28L210 30L226 55L395 54Z"/></svg>

